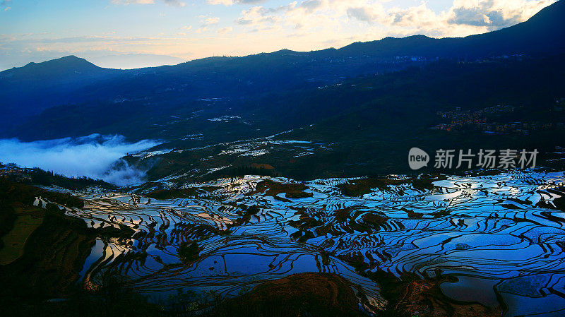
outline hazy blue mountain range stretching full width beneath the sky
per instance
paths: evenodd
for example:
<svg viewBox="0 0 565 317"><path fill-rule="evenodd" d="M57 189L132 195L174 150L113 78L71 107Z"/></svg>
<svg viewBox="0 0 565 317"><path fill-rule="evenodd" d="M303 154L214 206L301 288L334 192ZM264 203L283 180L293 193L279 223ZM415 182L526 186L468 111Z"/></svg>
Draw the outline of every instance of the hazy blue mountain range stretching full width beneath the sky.
<svg viewBox="0 0 565 317"><path fill-rule="evenodd" d="M339 85L347 78L422 67L438 59L496 61L499 56L513 54L520 56L511 59L562 54L565 52L563 16L565 1L561 0L524 23L462 38L387 37L341 49L314 52L285 49L131 70L99 68L76 56L28 64L0 73L0 112L9 114L0 119L0 136L25 136L31 140L105 132L171 140L179 137L179 127L164 126L179 120L173 116L191 122L191 128L186 128L182 136L185 137L198 131L218 130L221 122L218 118L243 114L250 117L234 124L241 129L220 128L214 132L218 138L211 138L210 142L261 136L276 132L275 127L310 124L313 116L321 119L357 107L343 104L328 113L307 105L297 109L302 100L319 103L316 90ZM290 118L290 124L257 126L260 121L272 119L267 114L275 110L270 109L273 104L278 104L278 109L310 115L307 119L301 115ZM263 109L263 114L254 109ZM124 117L130 121L137 118L136 124L129 126ZM47 121L30 131L28 126L32 122L37 124L38 120ZM73 124L73 120L81 124ZM140 125L144 128L140 129Z"/></svg>

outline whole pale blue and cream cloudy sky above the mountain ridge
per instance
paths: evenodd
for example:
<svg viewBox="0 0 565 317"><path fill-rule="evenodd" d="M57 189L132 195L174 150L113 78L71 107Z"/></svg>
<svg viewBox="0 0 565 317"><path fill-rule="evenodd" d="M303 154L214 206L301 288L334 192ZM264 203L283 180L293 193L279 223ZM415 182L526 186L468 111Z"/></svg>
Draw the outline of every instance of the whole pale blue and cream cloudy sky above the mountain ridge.
<svg viewBox="0 0 565 317"><path fill-rule="evenodd" d="M0 0L0 71L66 55L102 67L179 64L383 37L462 37L555 0Z"/></svg>

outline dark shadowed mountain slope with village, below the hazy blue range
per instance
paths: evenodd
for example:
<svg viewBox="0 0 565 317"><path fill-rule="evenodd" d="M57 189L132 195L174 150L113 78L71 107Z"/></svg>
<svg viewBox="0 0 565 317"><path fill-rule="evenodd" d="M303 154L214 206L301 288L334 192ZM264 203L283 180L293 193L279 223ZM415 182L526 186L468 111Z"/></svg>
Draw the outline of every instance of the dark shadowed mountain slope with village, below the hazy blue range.
<svg viewBox="0 0 565 317"><path fill-rule="evenodd" d="M564 71L561 54L523 61L440 60L421 68L351 78L340 85L266 97L249 112L239 113L241 120L254 120L255 126L247 130L237 125L239 120L194 126L194 131L195 119L168 124L163 128L172 141L161 149L180 151L165 151L148 160L134 156L130 162L151 167L150 181L173 173L189 181L245 173L309 180L409 174L406 156L413 147L430 155L439 149L476 153L510 148L537 149L539 165L547 167L550 159L562 169L563 161L546 153L565 145L565 112L555 107L556 100L565 97ZM42 121L52 120L45 116ZM131 133L142 121L121 131ZM118 128L124 126L112 129ZM256 128L262 136L292 130L241 140L254 136ZM187 131L201 133L201 140L174 138ZM229 131L237 133L239 141L226 143ZM219 135L223 143L218 142ZM208 144L213 146L202 146ZM439 172L433 166L432 162L423 172Z"/></svg>

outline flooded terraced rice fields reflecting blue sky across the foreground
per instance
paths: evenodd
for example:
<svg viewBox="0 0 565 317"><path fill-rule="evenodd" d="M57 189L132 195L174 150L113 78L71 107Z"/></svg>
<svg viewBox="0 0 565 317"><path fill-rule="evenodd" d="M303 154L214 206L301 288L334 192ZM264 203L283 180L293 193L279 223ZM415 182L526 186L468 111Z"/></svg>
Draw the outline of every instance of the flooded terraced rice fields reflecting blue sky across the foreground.
<svg viewBox="0 0 565 317"><path fill-rule="evenodd" d="M283 185L273 189L267 179ZM441 292L504 316L565 314L563 172L439 177L426 189L391 177L357 197L338 188L348 181L220 179L186 184L194 197L167 200L76 193L87 204L67 215L135 231L98 239L81 279L92 285L118 268L130 287L155 297L178 289L235 297L294 273L337 273L381 306L382 285L364 273L383 270L457 277L441 282ZM182 261L179 246L194 241L197 256Z"/></svg>

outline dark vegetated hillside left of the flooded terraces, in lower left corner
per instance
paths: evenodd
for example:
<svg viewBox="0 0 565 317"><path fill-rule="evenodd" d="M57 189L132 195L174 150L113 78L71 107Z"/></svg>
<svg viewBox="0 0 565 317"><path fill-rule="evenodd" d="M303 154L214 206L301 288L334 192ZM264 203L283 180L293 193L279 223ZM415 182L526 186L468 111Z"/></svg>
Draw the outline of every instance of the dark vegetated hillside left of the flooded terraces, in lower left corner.
<svg viewBox="0 0 565 317"><path fill-rule="evenodd" d="M32 205L45 198L45 208ZM0 298L37 303L69 297L78 291L76 281L97 237L129 239L133 229L88 228L84 220L69 217L59 205L83 207L83 200L25 184L0 180Z"/></svg>

